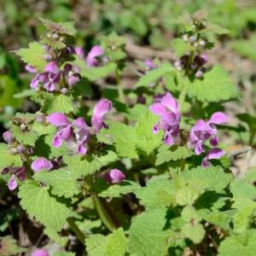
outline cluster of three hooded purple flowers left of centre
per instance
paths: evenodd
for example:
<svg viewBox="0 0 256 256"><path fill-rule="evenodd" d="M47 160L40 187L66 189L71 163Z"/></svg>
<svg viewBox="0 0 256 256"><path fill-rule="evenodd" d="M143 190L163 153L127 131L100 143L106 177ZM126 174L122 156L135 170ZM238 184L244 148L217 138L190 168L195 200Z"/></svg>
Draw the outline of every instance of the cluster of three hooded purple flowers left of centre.
<svg viewBox="0 0 256 256"><path fill-rule="evenodd" d="M58 131L53 139L53 146L59 148L61 144L66 142L67 147L74 150L78 154L86 154L86 144L89 142L90 135L96 134L107 127L104 123L103 116L112 108L112 102L102 99L96 103L91 118L91 125L86 124L83 118L78 118L70 122L63 113L52 113L47 117L51 125L57 127Z"/></svg>

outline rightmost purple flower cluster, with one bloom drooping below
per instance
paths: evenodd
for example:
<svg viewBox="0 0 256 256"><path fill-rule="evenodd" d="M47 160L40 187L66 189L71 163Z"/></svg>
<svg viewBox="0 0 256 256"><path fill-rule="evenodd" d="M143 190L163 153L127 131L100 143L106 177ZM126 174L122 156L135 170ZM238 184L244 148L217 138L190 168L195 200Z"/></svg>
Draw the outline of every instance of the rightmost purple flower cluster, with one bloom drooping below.
<svg viewBox="0 0 256 256"><path fill-rule="evenodd" d="M207 167L210 165L209 160L219 159L224 155L224 150L216 148L218 146L218 130L216 125L224 124L228 119L225 113L215 112L207 122L199 119L191 128L188 147L194 149L195 154L200 155L205 151L203 145L207 141L209 141L213 147L202 160L202 166Z"/></svg>

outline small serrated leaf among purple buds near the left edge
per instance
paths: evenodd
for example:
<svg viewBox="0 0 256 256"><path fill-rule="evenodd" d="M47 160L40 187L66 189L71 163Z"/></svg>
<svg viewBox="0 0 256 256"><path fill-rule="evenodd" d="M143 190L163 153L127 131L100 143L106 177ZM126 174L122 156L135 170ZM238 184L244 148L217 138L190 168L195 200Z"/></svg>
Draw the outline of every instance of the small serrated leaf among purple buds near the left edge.
<svg viewBox="0 0 256 256"><path fill-rule="evenodd" d="M11 125L10 131L15 139L23 145L34 146L39 137L37 131L21 131L18 125Z"/></svg>

